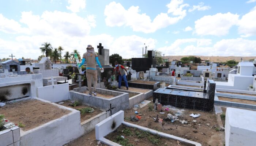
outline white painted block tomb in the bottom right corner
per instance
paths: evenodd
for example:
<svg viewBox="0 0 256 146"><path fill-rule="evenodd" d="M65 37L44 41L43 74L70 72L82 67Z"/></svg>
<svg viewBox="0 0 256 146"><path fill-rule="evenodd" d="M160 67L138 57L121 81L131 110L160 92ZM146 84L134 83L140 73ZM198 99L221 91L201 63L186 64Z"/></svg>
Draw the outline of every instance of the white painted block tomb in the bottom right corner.
<svg viewBox="0 0 256 146"><path fill-rule="evenodd" d="M225 122L226 146L255 146L256 112L227 108Z"/></svg>

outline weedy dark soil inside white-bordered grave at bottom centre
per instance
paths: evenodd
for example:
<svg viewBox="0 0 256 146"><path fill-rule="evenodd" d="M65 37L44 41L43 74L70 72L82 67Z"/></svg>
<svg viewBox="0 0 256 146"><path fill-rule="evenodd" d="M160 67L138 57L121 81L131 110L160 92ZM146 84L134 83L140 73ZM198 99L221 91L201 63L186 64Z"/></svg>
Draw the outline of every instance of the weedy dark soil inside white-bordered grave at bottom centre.
<svg viewBox="0 0 256 146"><path fill-rule="evenodd" d="M121 136L124 136L124 138L121 138ZM159 137L150 134L150 132L124 126L123 124L105 138L122 146L187 146L173 139Z"/></svg>

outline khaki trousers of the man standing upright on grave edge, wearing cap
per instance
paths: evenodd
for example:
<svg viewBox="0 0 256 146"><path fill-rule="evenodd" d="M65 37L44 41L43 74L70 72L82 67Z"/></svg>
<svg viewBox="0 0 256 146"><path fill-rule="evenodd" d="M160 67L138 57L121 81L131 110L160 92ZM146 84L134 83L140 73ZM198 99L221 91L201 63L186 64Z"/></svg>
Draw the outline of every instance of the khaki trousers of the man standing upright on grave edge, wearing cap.
<svg viewBox="0 0 256 146"><path fill-rule="evenodd" d="M87 78L87 86L89 88L89 93L92 93L91 89L91 77L93 77L93 92L96 92L97 87L97 70L96 69L86 69L86 78Z"/></svg>

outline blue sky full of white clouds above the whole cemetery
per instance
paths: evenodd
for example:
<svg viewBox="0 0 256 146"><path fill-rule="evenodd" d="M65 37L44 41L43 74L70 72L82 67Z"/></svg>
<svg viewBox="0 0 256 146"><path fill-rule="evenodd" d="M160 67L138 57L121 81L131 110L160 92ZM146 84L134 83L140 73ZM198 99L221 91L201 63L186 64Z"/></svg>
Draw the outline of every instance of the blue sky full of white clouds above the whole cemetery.
<svg viewBox="0 0 256 146"><path fill-rule="evenodd" d="M165 55L256 56L256 0L0 3L0 58L35 59L44 42L80 53L102 43L123 58L141 57L144 43Z"/></svg>

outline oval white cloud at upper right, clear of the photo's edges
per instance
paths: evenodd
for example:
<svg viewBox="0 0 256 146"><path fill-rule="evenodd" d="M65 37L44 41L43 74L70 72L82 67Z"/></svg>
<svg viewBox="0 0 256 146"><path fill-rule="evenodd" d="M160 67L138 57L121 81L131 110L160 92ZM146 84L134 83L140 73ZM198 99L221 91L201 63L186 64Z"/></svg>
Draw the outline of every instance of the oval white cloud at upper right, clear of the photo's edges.
<svg viewBox="0 0 256 146"><path fill-rule="evenodd" d="M239 15L230 12L203 16L195 21L195 32L198 35L226 35L238 23L238 18Z"/></svg>

